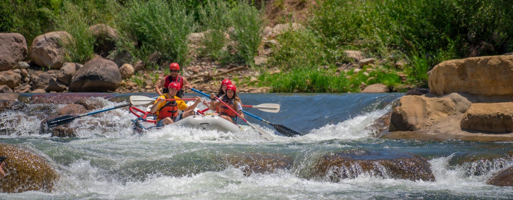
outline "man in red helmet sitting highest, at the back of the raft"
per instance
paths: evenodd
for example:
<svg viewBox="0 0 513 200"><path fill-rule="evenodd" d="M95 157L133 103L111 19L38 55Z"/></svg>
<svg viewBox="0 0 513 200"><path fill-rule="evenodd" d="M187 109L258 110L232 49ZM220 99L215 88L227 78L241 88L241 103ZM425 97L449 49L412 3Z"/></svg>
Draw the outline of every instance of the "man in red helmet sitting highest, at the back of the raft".
<svg viewBox="0 0 513 200"><path fill-rule="evenodd" d="M189 81L187 81L187 79L178 75L178 73L180 72L180 65L178 65L178 63L176 63L176 62L171 63L169 65L169 72L170 72L170 75L162 78L161 81L159 82L159 84L157 84L155 86L155 92L162 96L163 94L166 94L168 92L169 83L177 82L177 83L180 83L181 88L178 91L178 93L176 94L176 96L182 98L184 96L183 86L186 86L186 88L191 88L192 85L189 84ZM162 93L160 91L161 87L163 87Z"/></svg>

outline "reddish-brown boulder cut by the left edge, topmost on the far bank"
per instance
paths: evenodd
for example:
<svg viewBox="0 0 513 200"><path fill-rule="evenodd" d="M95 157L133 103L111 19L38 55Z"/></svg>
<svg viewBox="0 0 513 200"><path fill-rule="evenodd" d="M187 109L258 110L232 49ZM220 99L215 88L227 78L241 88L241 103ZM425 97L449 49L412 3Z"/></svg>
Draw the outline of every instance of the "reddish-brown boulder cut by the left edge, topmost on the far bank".
<svg viewBox="0 0 513 200"><path fill-rule="evenodd" d="M0 33L0 71L27 59L27 41L19 33Z"/></svg>

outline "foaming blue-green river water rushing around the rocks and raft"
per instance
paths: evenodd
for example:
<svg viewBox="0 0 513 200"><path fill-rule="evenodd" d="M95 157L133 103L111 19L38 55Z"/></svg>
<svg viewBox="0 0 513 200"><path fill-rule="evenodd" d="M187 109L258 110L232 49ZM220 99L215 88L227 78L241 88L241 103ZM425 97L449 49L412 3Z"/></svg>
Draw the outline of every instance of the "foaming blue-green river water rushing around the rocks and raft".
<svg viewBox="0 0 513 200"><path fill-rule="evenodd" d="M137 94L141 95L141 94ZM149 95L149 94L148 94ZM40 154L61 175L53 192L0 194L0 199L511 199L513 188L486 185L504 161L480 173L477 164L451 165L466 152L507 153L511 142L413 141L374 139L365 127L387 113L403 94L241 94L246 105L281 104L280 113L245 108L253 115L300 132L259 139L249 126L238 134L167 126L133 135L133 115L126 109L76 119L76 138L38 135L41 116L25 116L0 142ZM130 94L119 95L128 97ZM104 108L126 102L106 103ZM28 104L29 107L37 104ZM64 105L57 105L62 107ZM204 106L201 105L201 108ZM8 113L10 115L23 115ZM239 120L240 125L244 121ZM308 169L326 152L391 149L421 155L435 182L388 179L362 174L332 183L308 179ZM223 163L230 154L274 153L292 158L290 169L245 175L242 167ZM481 163L482 164L482 163ZM485 163L486 164L486 163Z"/></svg>

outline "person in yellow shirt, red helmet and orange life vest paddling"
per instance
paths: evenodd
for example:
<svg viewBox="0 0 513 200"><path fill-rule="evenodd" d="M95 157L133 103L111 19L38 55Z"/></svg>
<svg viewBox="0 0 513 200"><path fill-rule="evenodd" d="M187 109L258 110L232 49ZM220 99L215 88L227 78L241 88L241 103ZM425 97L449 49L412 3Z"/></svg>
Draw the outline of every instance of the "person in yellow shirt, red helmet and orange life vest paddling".
<svg viewBox="0 0 513 200"><path fill-rule="evenodd" d="M184 101L166 101L165 99L180 99L176 96L176 93L182 88L180 83L171 82L169 83L169 92L160 96L153 106L151 106L151 113L157 115L156 127L162 127L168 124L172 124L186 117L196 115L194 108L200 103L201 97L196 97L196 101L191 106L187 106ZM184 112L178 115L178 110L184 110Z"/></svg>

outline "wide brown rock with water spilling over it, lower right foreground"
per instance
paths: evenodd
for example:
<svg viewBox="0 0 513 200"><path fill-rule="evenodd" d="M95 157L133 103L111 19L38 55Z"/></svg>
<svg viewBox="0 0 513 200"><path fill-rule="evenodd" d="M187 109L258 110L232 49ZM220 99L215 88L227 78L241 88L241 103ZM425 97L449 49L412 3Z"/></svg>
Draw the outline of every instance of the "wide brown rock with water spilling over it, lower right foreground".
<svg viewBox="0 0 513 200"><path fill-rule="evenodd" d="M366 174L390 179L435 181L426 159L402 151L351 149L325 154L315 163L308 179L338 183L342 179Z"/></svg>

